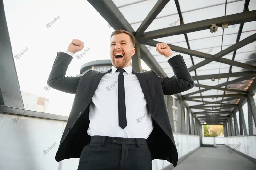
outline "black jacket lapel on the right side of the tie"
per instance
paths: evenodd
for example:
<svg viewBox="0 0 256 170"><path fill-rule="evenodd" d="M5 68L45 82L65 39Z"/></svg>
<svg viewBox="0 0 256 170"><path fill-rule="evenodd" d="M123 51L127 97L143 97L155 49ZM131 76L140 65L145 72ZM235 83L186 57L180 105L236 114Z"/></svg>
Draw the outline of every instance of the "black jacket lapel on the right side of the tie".
<svg viewBox="0 0 256 170"><path fill-rule="evenodd" d="M149 94L148 94L148 86L146 83L145 76L143 73L138 73L138 72L134 71L133 69L132 69L132 73L137 76L137 78L140 82L140 86L141 86L142 92L144 94L144 97L146 99L146 102L148 104L148 110L150 112L150 98L149 98Z"/></svg>

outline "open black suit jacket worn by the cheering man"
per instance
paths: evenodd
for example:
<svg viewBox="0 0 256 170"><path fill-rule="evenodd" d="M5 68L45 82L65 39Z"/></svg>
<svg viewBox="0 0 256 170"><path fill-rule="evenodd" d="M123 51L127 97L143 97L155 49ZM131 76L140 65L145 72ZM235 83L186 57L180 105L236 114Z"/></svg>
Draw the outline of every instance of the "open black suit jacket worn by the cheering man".
<svg viewBox="0 0 256 170"><path fill-rule="evenodd" d="M84 146L88 145L90 102L103 75L111 72L111 70L107 72L89 70L83 76L65 77L72 59L73 57L66 53L58 53L47 80L47 84L53 89L76 94L56 153L55 159L58 162L63 159L79 158ZM181 55L170 58L168 63L177 78L159 77L153 70L141 73L132 70L132 73L140 82L147 108L153 118L154 128L147 139L152 160L163 159L176 166L178 153L164 95L189 90L194 86L194 81Z"/></svg>

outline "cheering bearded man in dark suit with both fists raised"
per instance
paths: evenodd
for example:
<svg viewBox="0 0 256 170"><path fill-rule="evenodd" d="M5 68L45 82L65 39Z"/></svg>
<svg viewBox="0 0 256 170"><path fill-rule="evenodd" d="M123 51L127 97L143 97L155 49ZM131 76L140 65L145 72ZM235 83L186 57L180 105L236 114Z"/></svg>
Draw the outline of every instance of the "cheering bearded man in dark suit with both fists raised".
<svg viewBox="0 0 256 170"><path fill-rule="evenodd" d="M130 65L134 47L131 33L115 30L110 40L112 69L77 77L65 74L84 43L73 39L66 52L57 54L47 84L76 95L56 161L80 158L78 170L149 170L154 159L177 165L164 95L189 90L194 81L183 57L173 55L167 43L157 44L156 51L167 58L176 78L159 77L153 70L137 73Z"/></svg>

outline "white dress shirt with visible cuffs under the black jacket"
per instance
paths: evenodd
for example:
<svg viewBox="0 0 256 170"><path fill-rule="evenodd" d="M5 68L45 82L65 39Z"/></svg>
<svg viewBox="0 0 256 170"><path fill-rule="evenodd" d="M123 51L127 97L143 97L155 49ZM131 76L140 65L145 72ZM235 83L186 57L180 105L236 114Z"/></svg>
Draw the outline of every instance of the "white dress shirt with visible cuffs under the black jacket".
<svg viewBox="0 0 256 170"><path fill-rule="evenodd" d="M73 53L65 52L73 57ZM175 54L177 55L177 54ZM175 56L171 55L167 61ZM124 138L145 138L153 130L153 122L147 111L147 102L140 82L132 73L132 66L123 68L127 126L118 125L118 75L117 68L105 74L92 97L89 113L88 135L100 135Z"/></svg>

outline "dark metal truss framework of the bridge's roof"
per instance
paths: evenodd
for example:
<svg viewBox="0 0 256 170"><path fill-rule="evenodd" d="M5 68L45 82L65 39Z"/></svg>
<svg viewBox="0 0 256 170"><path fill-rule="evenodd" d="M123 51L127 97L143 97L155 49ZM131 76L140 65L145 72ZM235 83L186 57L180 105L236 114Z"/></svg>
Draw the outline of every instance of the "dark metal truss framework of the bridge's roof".
<svg viewBox="0 0 256 170"><path fill-rule="evenodd" d="M180 10L179 1L174 0L176 7L177 7L178 15L180 18L180 25L174 26L174 27L163 28L163 29L159 29L159 30L154 30L154 31L149 31L146 33L145 33L145 30L154 21L154 19L156 19L157 15L163 10L163 8L169 2L169 0L158 0L157 3L152 8L152 10L148 13L147 17L142 21L140 27L136 31L133 30L131 25L124 18L123 14L119 11L119 9L116 7L116 5L114 4L113 1L109 1L109 0L97 0L97 2L95 2L93 0L87 0L87 1L100 13L100 15L108 23L115 23L115 24L111 25L115 30L123 29L123 30L127 30L135 35L136 44L137 44L136 47L139 48L138 49L138 51L139 51L138 57L141 58L148 65L148 67L150 69L154 70L158 76L168 77L167 74L164 72L163 68L156 61L154 56L151 53L148 53L148 49L145 45L150 45L150 46L155 47L157 43L161 43L161 42L155 41L154 39L168 37L168 36L172 36L172 35L184 34L188 48L182 48L182 47L178 47L178 46L175 46L172 44L168 44L168 46L173 51L190 55L190 58L192 61L192 66L189 67L188 70L189 70L189 72L191 72L191 71L195 72L195 76L193 76L193 80L197 81L197 84L195 84L195 86L199 87L199 91L189 93L184 96L181 96L181 94L177 94L176 97L178 97L179 99L188 100L188 101L202 102L203 104L190 106L190 108L200 108L205 111L193 113L191 110L191 112L193 114L205 114L207 118L212 117L211 114L213 114L213 113L217 114L217 115L219 115L219 114L234 114L238 111L239 107L242 107L246 103L246 97L248 97L248 95L254 95L254 93L256 91L255 81L252 82L252 84L250 85L250 87L247 91L227 88L227 85L229 85L229 84L243 81L245 79L251 79L256 76L256 66L237 62L234 60L237 49L239 49L249 43L252 43L256 40L256 34L253 34L253 35L239 41L241 33L242 33L243 23L256 21L256 10L249 11L249 9L248 9L249 0L245 0L244 11L241 13L236 13L236 14L227 15L227 16L223 16L223 17L217 17L217 18L213 18L213 19L206 19L206 20L192 22L192 23L188 23L188 24L184 24L184 22L183 22L183 17L182 17L182 12ZM120 16L121 16L121 19L120 19ZM203 52L199 52L199 51L190 49L187 33L209 29L209 27L212 24L217 24L218 27L221 27L222 23L228 23L229 25L240 24L240 28L239 28L239 32L238 32L238 36L237 36L237 40L236 40L235 44L220 51L219 53L217 53L215 55L206 54ZM230 52L233 52L232 60L222 58L223 56L229 54ZM199 57L199 58L204 58L205 60L199 62L198 64L194 64L193 56ZM221 62L221 63L230 65L229 73L197 76L196 69L200 68L212 61ZM243 68L245 70L249 70L249 71L232 73L232 71L231 71L232 66L237 66L237 67ZM173 77L175 77L175 76L173 76ZM214 79L229 78L229 77L242 77L242 78L238 78L233 81L228 81L228 79L227 79L227 82L219 84L217 86L207 86L207 85L199 84L199 82L198 82L199 80L207 80L207 79L212 79L212 78L214 78ZM225 88L221 88L223 86L225 86ZM200 88L205 88L205 89L201 90ZM218 96L217 95L209 95L209 96L202 95L202 92L208 91L211 89L223 90L224 94L218 95ZM226 94L226 91L236 93L236 94ZM196 93L200 93L200 96L191 96ZM222 99L222 100L215 101L215 102L209 102L209 101L203 100L203 98L216 98L216 97L217 98L218 97L229 97L229 98ZM196 98L200 98L202 100L195 100ZM228 101L232 101L232 100L239 100L239 102L237 102L236 104L223 103L223 102L228 102ZM185 101L184 101L184 103L186 104L186 107L189 108L188 104ZM208 107L210 107L210 108L212 107L212 106L206 106L207 104L220 104L218 106L214 106L214 107L217 107L220 109L214 109L214 110L205 109ZM221 109L227 109L227 108L234 108L234 109L233 109L233 111L221 110ZM209 112L209 111L211 111L211 112ZM228 118L228 116L224 116L224 117ZM222 122L222 120L220 121L218 119L218 120L212 121L212 119L211 119L211 122L210 121L206 121L206 122L208 124L209 123L220 124L220 122Z"/></svg>

